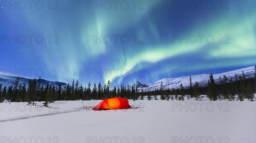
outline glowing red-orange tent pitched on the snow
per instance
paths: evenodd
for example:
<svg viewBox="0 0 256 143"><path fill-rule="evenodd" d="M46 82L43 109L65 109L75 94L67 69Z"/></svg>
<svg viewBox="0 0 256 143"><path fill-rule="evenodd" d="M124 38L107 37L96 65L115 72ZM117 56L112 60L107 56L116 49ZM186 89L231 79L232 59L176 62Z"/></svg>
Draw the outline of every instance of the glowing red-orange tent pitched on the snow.
<svg viewBox="0 0 256 143"><path fill-rule="evenodd" d="M109 98L102 100L93 110L109 110L109 109L129 109L131 106L129 101L124 98Z"/></svg>

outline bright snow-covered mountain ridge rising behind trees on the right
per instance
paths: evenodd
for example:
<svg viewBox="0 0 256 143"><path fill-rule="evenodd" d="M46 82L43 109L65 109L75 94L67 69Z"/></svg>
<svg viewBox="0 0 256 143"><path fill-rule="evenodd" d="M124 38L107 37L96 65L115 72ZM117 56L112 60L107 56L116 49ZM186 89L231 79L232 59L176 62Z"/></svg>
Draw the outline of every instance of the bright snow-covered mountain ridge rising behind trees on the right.
<svg viewBox="0 0 256 143"><path fill-rule="evenodd" d="M232 70L225 73L218 73L214 74L213 78L218 83L219 77L223 78L225 75L228 79L235 79L235 74L239 77L242 76L242 72L244 72L244 75L246 78L252 78L254 77L254 66L252 67L246 67L239 70ZM209 74L200 74L200 75L194 75L191 76L192 84L195 84L195 82L198 82L199 86L205 86L207 85L207 81L209 79ZM180 88L180 84L183 85L183 87L188 88L189 87L189 76L181 76L179 78L164 78L160 79L159 81L156 81L152 84L146 84L141 81L137 81L137 87L139 91L151 91L155 89L160 89L161 81L163 81L163 88L164 89L172 89L172 88Z"/></svg>

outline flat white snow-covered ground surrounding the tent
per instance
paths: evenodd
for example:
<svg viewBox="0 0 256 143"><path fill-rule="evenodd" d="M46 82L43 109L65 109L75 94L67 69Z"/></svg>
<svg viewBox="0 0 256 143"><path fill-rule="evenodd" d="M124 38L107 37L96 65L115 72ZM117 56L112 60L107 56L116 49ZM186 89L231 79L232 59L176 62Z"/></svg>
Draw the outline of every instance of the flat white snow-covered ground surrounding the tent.
<svg viewBox="0 0 256 143"><path fill-rule="evenodd" d="M56 101L50 108L42 103L1 103L0 142L256 142L255 101L130 100L131 106L139 108L89 108L99 102Z"/></svg>

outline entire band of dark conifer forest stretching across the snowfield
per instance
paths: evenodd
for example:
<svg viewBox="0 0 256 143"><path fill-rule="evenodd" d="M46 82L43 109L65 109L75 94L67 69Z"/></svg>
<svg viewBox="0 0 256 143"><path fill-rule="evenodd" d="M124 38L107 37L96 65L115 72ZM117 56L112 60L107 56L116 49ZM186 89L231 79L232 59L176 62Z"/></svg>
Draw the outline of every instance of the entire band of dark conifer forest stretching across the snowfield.
<svg viewBox="0 0 256 143"><path fill-rule="evenodd" d="M255 66L256 70L256 66ZM209 75L207 85L199 86L198 82L192 84L191 76L189 78L189 87L185 88L180 84L180 88L164 89L163 82L161 81L160 89L152 91L138 91L138 87L133 85L124 85L113 87L110 89L111 82L107 84L94 83L92 86L89 82L87 87L83 87L77 80L72 81L67 86L62 87L61 84L57 87L55 85L49 85L44 87L41 84L41 78L38 81L36 79L30 80L28 89L26 84L20 84L20 78L17 77L15 84L10 87L2 87L0 84L0 102L7 100L9 102L28 102L28 104L35 104L35 101L45 101L45 106L48 103L61 100L98 100L112 97L127 98L132 100L144 100L147 97L148 100L179 100L183 101L184 98L195 100L201 100L201 95L207 95L210 100L240 100L248 99L253 101L254 93L256 93L256 73L253 78L246 78L242 72L242 76L235 74L234 78L228 79L225 75L214 79L213 75Z"/></svg>

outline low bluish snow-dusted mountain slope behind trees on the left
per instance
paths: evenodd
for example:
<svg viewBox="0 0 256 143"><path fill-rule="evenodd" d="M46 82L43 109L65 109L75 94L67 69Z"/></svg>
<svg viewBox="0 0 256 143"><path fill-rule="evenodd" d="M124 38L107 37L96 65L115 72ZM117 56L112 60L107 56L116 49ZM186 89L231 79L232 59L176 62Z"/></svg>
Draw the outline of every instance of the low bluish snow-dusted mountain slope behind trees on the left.
<svg viewBox="0 0 256 143"><path fill-rule="evenodd" d="M11 74L11 73L4 73L4 72L0 72L0 84L2 84L2 88L3 87L9 87L15 84L15 80L17 79L17 75L15 74ZM23 83L26 84L26 87L28 87L29 85L29 80L33 80L33 79L29 79L29 78L24 78L24 77L19 77L19 84L21 84L21 86L23 86ZM38 82L38 79L36 79L36 81ZM59 83L61 84L61 87L66 86L67 84L64 82L59 82L59 81L47 81L45 79L41 79L41 85L43 85L44 87L46 87L47 83L49 83L49 85L54 85L55 87L58 87Z"/></svg>

